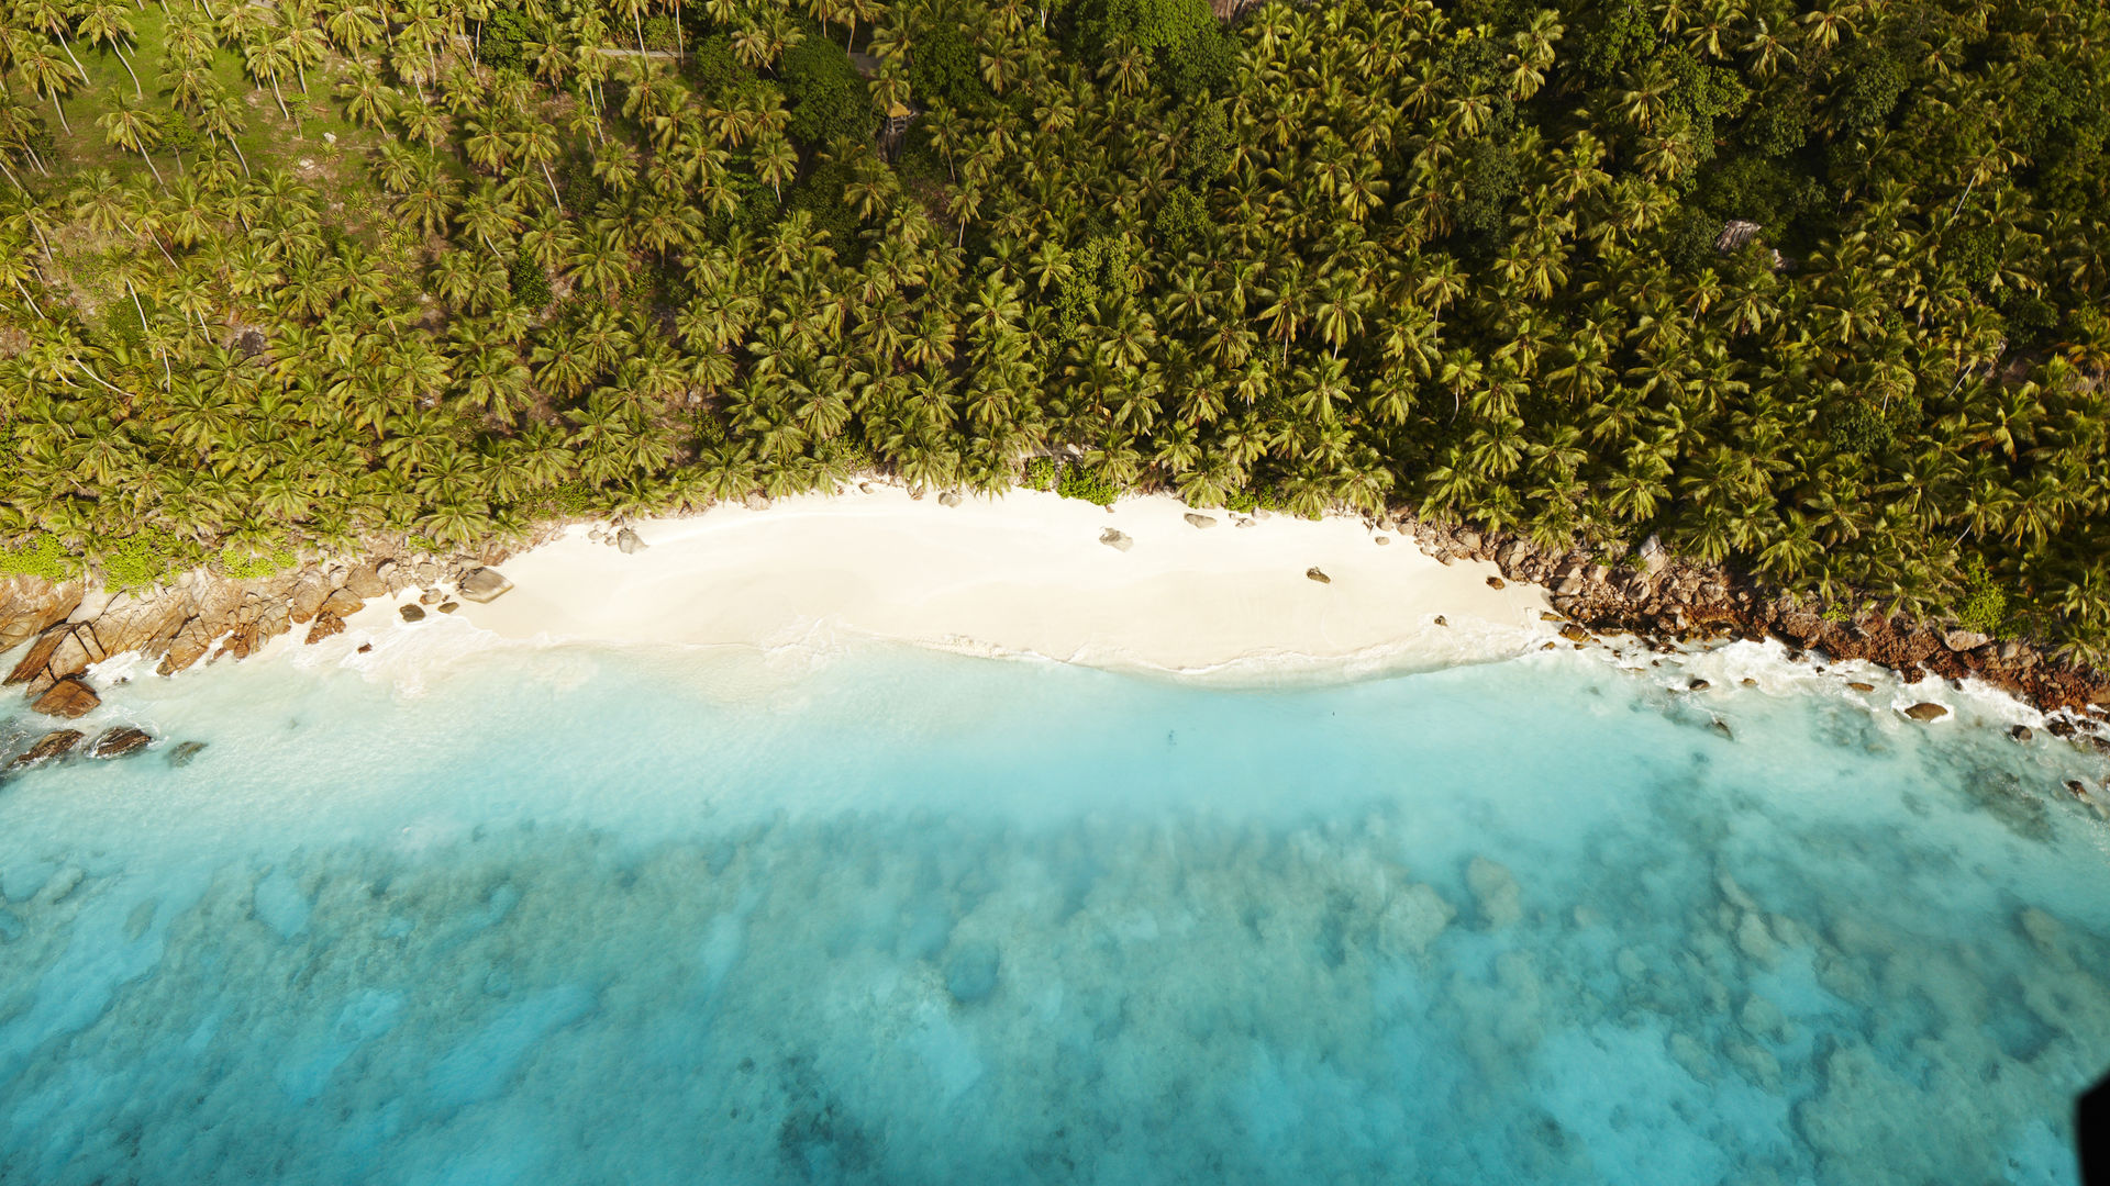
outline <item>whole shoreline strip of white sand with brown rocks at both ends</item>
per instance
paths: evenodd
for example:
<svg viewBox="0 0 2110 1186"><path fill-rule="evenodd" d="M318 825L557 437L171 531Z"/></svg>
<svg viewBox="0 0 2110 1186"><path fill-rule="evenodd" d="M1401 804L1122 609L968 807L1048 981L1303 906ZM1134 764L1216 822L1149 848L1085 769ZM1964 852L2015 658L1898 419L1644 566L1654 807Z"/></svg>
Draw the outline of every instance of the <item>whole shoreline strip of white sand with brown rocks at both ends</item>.
<svg viewBox="0 0 2110 1186"><path fill-rule="evenodd" d="M479 604L462 582L485 566L506 585ZM99 705L101 665L118 656L133 658L112 669L175 675L433 612L517 642L772 652L880 639L1226 682L1353 680L1553 646L1690 656L1772 637L1819 673L1865 661L1907 688L1973 680L2047 732L2110 753L2110 682L2095 673L2019 642L1825 616L1661 551L1614 566L1412 519L1190 511L1169 496L1101 509L1023 487L916 498L878 477L833 496L553 523L519 553L376 551L253 580L194 570L120 595L0 578L0 654L30 644L6 684L63 720Z"/></svg>

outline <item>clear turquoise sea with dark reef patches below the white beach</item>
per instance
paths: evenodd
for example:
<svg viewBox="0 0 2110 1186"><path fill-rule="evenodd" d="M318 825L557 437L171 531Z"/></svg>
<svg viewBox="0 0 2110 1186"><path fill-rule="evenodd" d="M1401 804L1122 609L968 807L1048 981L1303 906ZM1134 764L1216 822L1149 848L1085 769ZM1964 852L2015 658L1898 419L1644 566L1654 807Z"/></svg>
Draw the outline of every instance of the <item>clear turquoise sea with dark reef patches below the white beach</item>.
<svg viewBox="0 0 2110 1186"><path fill-rule="evenodd" d="M2072 1182L2102 770L1665 682L141 680L0 789L0 1182Z"/></svg>

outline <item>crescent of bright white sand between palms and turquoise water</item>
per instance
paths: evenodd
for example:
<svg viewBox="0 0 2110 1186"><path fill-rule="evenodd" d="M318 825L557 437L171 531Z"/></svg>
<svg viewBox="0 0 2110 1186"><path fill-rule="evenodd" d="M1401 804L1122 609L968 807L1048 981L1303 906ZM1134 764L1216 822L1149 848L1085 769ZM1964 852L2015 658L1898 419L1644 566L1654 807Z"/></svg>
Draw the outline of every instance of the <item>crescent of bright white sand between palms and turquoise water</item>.
<svg viewBox="0 0 2110 1186"><path fill-rule="evenodd" d="M515 639L867 637L1167 671L1443 665L1547 633L1542 591L1490 589L1490 563L1443 566L1405 536L1384 547L1357 519L1236 525L1213 511L1213 528L1194 528L1186 511L1125 498L1108 513L1028 490L943 506L880 485L635 521L648 547L633 555L576 525L504 563L515 589L462 616ZM1133 547L1099 542L1108 528Z"/></svg>

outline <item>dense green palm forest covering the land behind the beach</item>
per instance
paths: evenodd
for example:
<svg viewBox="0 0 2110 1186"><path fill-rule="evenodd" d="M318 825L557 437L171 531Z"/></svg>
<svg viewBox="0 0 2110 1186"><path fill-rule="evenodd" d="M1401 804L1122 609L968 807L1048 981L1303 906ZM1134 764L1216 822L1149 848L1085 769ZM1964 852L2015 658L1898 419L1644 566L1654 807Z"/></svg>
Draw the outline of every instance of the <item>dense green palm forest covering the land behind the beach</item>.
<svg viewBox="0 0 2110 1186"><path fill-rule="evenodd" d="M890 473L2110 642L2072 0L0 0L0 566Z"/></svg>

